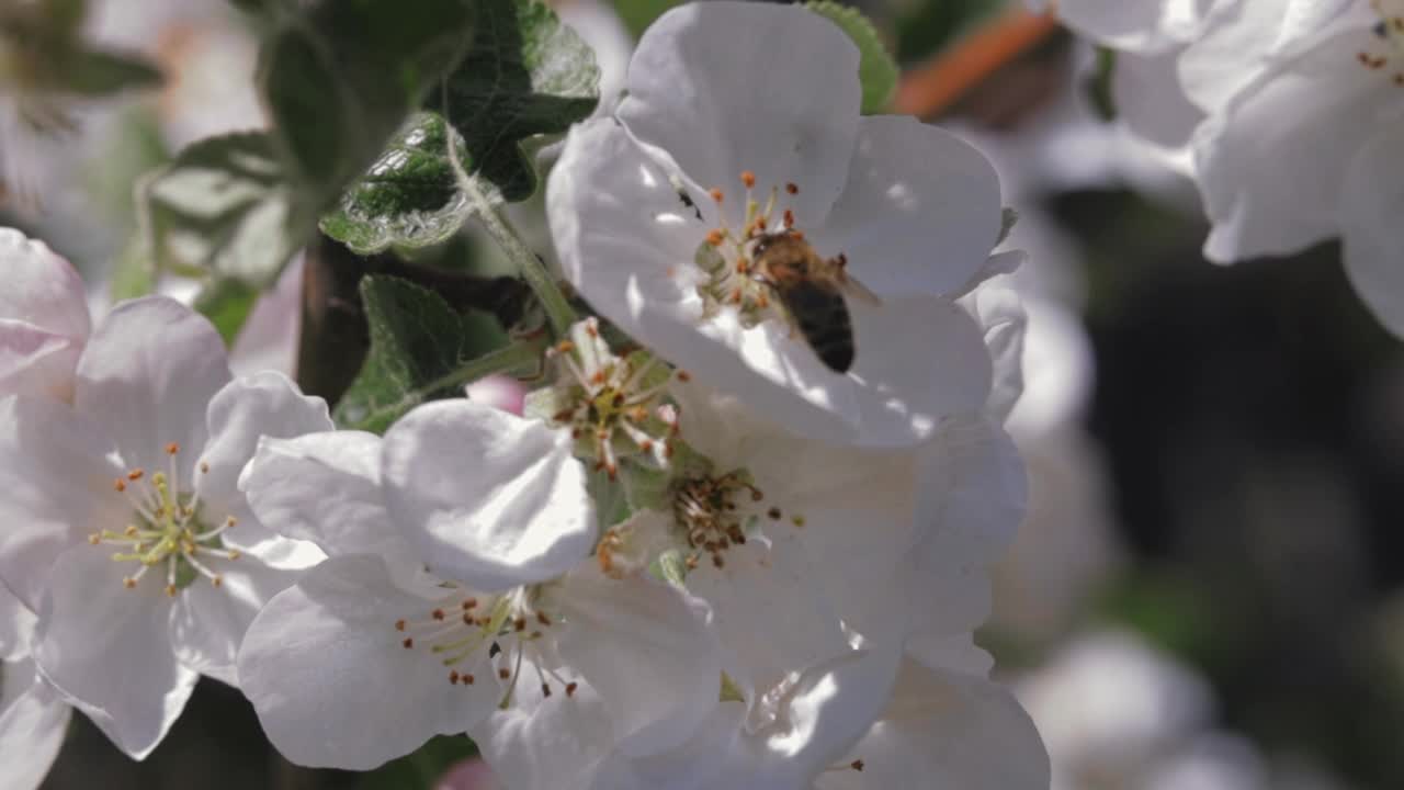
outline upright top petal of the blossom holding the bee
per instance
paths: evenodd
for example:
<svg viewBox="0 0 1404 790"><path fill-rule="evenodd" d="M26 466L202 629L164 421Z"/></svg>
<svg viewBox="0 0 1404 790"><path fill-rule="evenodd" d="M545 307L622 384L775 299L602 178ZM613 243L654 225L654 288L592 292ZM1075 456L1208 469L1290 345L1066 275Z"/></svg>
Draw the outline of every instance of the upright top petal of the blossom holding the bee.
<svg viewBox="0 0 1404 790"><path fill-rule="evenodd" d="M733 219L744 211L740 174L751 170L762 201L772 186L797 184L789 204L813 226L842 188L861 93L858 49L837 25L804 8L723 0L649 27L618 115L698 197L733 194Z"/></svg>

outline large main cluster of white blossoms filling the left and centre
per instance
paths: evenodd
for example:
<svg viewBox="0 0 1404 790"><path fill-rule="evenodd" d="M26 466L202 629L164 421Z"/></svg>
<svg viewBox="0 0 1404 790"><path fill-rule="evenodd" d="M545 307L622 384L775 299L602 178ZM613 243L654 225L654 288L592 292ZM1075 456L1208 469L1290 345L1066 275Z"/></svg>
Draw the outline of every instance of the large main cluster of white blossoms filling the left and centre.
<svg viewBox="0 0 1404 790"><path fill-rule="evenodd" d="M1046 787L972 641L1024 512L1019 308L990 283L1019 256L990 254L988 162L859 115L858 62L800 7L647 31L548 186L601 318L521 415L337 430L178 302L91 329L67 264L0 235L25 782L66 706L139 759L205 675L309 766L468 732L514 790Z"/></svg>

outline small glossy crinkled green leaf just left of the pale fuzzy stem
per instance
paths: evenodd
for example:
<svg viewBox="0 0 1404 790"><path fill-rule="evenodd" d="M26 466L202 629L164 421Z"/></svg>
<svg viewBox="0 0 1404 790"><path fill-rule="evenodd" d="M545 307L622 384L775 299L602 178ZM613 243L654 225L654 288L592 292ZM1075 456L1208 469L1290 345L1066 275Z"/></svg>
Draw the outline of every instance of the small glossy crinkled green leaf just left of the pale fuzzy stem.
<svg viewBox="0 0 1404 790"><path fill-rule="evenodd" d="M322 218L322 232L358 254L392 246L407 253L453 236L470 209L448 160L449 131L435 112L411 117L369 171L341 194L341 204ZM472 160L461 159L468 170Z"/></svg>

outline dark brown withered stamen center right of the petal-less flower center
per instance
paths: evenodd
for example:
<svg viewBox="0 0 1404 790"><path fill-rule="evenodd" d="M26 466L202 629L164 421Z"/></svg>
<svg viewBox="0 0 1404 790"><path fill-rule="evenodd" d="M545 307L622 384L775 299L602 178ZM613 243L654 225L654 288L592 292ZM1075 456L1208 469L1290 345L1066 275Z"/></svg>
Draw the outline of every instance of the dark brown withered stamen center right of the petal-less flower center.
<svg viewBox="0 0 1404 790"><path fill-rule="evenodd" d="M688 548L688 568L696 568L699 557L712 557L712 565L726 565L723 555L733 545L744 545L762 519L779 522L783 510L765 505L765 493L751 481L747 470L733 470L720 477L703 474L673 484L673 519L682 529ZM804 517L790 516L796 527Z"/></svg>

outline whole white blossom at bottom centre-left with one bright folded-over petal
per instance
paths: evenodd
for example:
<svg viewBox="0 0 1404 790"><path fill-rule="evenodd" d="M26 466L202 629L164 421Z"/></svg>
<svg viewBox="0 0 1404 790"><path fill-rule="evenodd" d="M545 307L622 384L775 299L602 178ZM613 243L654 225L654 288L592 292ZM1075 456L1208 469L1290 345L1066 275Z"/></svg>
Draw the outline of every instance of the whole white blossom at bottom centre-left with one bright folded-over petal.
<svg viewBox="0 0 1404 790"><path fill-rule="evenodd" d="M421 406L383 440L264 441L241 481L254 512L331 555L270 602L240 651L279 751L369 769L514 711L534 732L566 717L626 753L696 730L720 678L706 607L588 557L594 507L571 446L470 401ZM536 745L566 737L548 727ZM536 787L529 772L543 769L494 770Z"/></svg>

